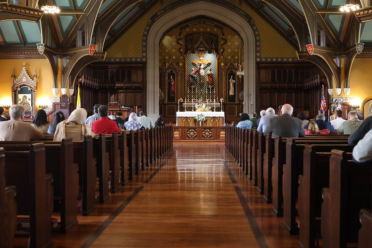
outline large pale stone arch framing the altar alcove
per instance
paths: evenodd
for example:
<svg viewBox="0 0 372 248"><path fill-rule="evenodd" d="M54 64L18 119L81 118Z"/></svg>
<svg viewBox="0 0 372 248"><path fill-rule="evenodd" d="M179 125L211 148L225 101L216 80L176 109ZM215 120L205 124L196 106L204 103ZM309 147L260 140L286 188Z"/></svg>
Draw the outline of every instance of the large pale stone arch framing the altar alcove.
<svg viewBox="0 0 372 248"><path fill-rule="evenodd" d="M223 4L223 2L225 1L218 1L220 4ZM197 15L206 15L215 19L220 19L221 16L223 16L223 21L240 33L243 39L245 51L244 70L246 71L246 75L244 76L244 92L246 96L251 96L250 99L248 99L248 97L244 99L246 102L244 106L247 108L248 100L253 100L253 102L255 102L256 53L258 53L257 56L259 56L259 50L256 50L256 45L259 46L260 44L257 27L254 25L254 21L248 13L241 10L239 7L236 7L231 3L226 5L227 7L220 4L212 3L210 1L190 2L175 8L175 10L168 10L164 13L158 11L157 13L160 12L161 14L156 18L156 21L153 22L152 19L149 20L142 38L142 45L146 46L142 47L142 56L146 56L145 61L147 61L146 111L149 117L155 119L159 115L159 41L163 33L170 27L178 22ZM253 28L252 25L254 25ZM248 84L248 82L251 83ZM244 111L247 112L248 109L244 109Z"/></svg>

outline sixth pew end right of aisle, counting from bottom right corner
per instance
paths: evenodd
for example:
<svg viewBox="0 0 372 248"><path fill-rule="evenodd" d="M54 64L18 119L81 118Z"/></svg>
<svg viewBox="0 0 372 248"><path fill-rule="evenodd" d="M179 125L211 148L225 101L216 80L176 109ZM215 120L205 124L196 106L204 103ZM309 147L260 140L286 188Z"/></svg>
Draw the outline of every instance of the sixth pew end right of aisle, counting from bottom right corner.
<svg viewBox="0 0 372 248"><path fill-rule="evenodd" d="M266 203L272 203L272 160L274 157L274 140L271 133L265 137L265 153L263 155L263 198Z"/></svg>

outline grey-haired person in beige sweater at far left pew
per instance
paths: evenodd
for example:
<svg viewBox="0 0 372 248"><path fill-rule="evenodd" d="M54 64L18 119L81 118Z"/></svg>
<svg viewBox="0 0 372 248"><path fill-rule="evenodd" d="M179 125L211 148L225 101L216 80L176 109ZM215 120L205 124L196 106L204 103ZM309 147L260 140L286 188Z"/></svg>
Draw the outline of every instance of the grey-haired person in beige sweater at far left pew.
<svg viewBox="0 0 372 248"><path fill-rule="evenodd" d="M24 112L22 105L10 107L10 121L0 122L0 141L29 141L44 138L41 131L23 122Z"/></svg>

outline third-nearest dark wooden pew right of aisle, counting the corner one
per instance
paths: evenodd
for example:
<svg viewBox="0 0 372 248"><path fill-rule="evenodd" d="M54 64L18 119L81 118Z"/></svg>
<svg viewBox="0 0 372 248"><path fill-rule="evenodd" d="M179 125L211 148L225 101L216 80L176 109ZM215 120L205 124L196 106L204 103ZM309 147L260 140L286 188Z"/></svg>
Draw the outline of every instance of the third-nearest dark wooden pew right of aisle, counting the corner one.
<svg viewBox="0 0 372 248"><path fill-rule="evenodd" d="M329 159L333 148L350 152L353 149L348 144L305 144L304 169L303 175L299 176L298 188L300 247L315 247L315 218L321 216L322 189L329 186Z"/></svg>

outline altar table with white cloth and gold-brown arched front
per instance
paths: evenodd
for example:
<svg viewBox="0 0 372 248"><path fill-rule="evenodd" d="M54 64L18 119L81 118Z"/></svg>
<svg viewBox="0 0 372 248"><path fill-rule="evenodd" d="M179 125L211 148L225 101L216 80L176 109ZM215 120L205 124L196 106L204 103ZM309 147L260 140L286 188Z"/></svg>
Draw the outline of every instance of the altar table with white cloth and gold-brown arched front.
<svg viewBox="0 0 372 248"><path fill-rule="evenodd" d="M199 122L194 120L194 117L197 115L203 114L203 116L208 119L204 122L201 122L202 126L224 126L225 125L225 112L223 111L183 111L176 112L177 117L177 126L197 126L200 125Z"/></svg>

